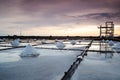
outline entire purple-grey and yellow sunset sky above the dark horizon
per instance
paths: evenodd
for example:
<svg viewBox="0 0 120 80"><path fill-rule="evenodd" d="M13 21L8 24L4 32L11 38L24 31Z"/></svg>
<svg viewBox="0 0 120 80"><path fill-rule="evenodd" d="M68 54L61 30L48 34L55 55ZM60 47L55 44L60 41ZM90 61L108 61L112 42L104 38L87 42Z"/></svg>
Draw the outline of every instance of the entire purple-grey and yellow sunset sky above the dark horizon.
<svg viewBox="0 0 120 80"><path fill-rule="evenodd" d="M120 35L120 0L0 0L1 36L98 36L106 21Z"/></svg>

